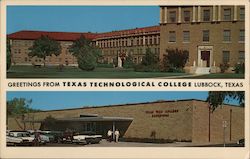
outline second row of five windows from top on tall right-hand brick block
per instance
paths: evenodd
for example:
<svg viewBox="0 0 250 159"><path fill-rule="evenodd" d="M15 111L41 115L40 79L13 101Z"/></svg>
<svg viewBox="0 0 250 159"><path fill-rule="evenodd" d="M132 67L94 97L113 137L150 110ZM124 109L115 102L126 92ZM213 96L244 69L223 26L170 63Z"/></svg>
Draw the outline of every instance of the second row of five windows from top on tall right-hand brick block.
<svg viewBox="0 0 250 159"><path fill-rule="evenodd" d="M210 41L210 31L209 30L202 31L202 41L203 42ZM231 30L223 30L223 42L231 42L231 41L232 41ZM244 29L239 30L238 41L239 42L245 41L245 30ZM175 31L169 31L168 42L176 42L176 32ZM190 31L183 31L183 42L190 42Z"/></svg>

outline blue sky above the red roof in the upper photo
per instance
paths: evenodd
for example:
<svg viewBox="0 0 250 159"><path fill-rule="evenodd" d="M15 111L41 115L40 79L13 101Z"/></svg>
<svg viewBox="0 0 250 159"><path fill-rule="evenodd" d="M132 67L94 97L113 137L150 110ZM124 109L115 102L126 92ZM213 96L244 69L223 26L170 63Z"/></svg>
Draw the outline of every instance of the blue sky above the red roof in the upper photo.
<svg viewBox="0 0 250 159"><path fill-rule="evenodd" d="M158 6L8 6L7 33L107 32L158 25Z"/></svg>

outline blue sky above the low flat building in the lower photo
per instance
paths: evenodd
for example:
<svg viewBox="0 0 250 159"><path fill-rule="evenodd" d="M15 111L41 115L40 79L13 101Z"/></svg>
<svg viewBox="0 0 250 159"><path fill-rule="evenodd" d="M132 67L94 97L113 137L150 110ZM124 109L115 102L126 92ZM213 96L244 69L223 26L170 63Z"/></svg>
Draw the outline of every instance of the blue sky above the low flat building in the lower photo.
<svg viewBox="0 0 250 159"><path fill-rule="evenodd" d="M103 106L157 100L201 99L206 100L208 92L194 91L13 91L7 92L7 100L14 97L32 99L32 108L54 110L82 106Z"/></svg>

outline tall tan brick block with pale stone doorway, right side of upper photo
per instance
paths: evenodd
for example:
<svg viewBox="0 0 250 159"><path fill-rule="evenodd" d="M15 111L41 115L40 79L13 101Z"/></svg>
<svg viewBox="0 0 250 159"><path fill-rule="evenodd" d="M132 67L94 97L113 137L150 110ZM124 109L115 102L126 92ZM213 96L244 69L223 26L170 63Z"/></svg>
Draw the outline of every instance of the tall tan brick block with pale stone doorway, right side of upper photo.
<svg viewBox="0 0 250 159"><path fill-rule="evenodd" d="M160 58L167 49L189 51L187 72L229 70L245 57L244 6L161 6Z"/></svg>

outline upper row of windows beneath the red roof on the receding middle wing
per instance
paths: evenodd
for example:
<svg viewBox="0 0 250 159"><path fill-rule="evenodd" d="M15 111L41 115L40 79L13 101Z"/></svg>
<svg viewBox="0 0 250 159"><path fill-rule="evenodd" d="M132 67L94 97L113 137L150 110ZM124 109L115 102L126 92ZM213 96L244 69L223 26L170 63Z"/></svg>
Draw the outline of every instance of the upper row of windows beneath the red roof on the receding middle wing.
<svg viewBox="0 0 250 159"><path fill-rule="evenodd" d="M127 47L127 46L142 46L142 45L158 45L160 43L160 36L146 36L145 43L143 37L135 39L114 39L98 41L97 45L100 48L110 47Z"/></svg>

